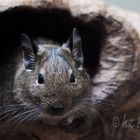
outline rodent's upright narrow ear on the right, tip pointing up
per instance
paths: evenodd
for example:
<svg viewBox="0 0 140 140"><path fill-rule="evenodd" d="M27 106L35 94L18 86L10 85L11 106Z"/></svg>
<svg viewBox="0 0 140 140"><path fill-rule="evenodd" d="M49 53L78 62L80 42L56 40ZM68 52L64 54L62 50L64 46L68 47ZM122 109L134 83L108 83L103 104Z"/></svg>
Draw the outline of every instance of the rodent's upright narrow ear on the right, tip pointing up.
<svg viewBox="0 0 140 140"><path fill-rule="evenodd" d="M82 40L76 28L73 29L72 35L72 54L77 69L83 69L84 56L82 51Z"/></svg>

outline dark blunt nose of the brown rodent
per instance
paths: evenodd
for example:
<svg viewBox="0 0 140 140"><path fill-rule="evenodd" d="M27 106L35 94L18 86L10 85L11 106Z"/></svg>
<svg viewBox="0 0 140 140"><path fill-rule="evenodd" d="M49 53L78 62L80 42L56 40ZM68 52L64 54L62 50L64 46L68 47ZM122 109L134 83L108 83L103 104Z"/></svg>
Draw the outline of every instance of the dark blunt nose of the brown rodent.
<svg viewBox="0 0 140 140"><path fill-rule="evenodd" d="M49 107L49 110L48 112L51 114L51 115L62 115L63 112L64 112L64 107L63 106L57 106L57 105L53 105L53 106L50 106Z"/></svg>

